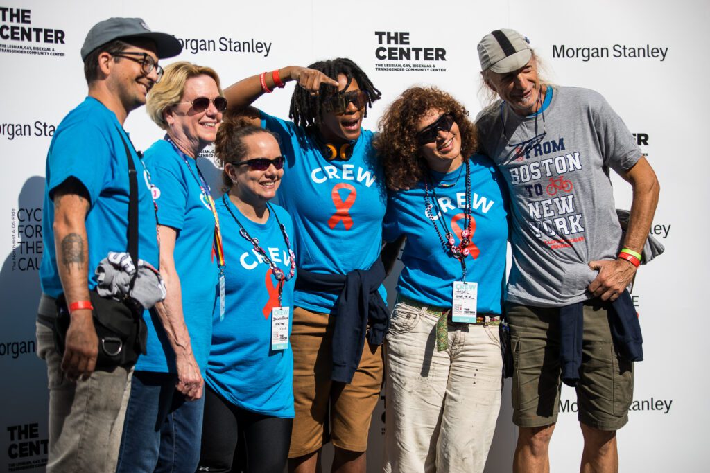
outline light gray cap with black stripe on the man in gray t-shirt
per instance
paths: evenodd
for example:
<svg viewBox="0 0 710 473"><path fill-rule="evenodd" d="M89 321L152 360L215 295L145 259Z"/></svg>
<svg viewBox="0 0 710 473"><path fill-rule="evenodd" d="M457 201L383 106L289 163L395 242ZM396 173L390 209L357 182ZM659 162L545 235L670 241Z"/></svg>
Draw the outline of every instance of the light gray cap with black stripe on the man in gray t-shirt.
<svg viewBox="0 0 710 473"><path fill-rule="evenodd" d="M479 43L479 60L484 71L508 74L528 64L530 57L530 41L515 30L491 31Z"/></svg>

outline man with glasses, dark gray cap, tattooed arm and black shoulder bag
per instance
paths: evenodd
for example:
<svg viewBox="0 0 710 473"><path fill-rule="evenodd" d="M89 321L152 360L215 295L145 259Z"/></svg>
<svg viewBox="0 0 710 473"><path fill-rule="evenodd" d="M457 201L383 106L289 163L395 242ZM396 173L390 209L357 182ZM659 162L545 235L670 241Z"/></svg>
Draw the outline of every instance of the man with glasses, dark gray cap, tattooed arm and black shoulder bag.
<svg viewBox="0 0 710 473"><path fill-rule="evenodd" d="M81 50L88 96L65 116L50 144L37 320L37 354L47 362L50 391L47 472L116 469L135 357L114 361L103 356L116 355L116 350L107 348L108 337L99 347L92 317L101 300L96 299L94 269L109 252L132 247L137 257L158 267L149 177L143 177L123 124L160 80L158 59L181 50L178 40L154 33L141 18L110 18L94 25ZM129 179L129 169L138 170L137 179L135 172ZM136 203L130 213L129 201ZM136 245L129 245L126 216L139 222L131 233ZM143 308L131 311L136 326L141 316L149 316ZM62 340L57 345L55 335ZM140 345L138 338L128 338L132 343L126 346L119 338L111 340L128 350Z"/></svg>

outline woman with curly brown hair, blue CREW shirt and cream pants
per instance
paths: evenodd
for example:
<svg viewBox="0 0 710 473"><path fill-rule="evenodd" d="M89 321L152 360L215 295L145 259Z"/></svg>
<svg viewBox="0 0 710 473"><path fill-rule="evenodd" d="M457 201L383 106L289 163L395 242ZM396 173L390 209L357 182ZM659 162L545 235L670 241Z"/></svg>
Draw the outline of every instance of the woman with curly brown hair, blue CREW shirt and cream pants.
<svg viewBox="0 0 710 473"><path fill-rule="evenodd" d="M386 472L482 472L496 428L506 197L468 114L413 87L375 143L389 187L407 189L389 193L383 224L385 240L406 237L386 343Z"/></svg>

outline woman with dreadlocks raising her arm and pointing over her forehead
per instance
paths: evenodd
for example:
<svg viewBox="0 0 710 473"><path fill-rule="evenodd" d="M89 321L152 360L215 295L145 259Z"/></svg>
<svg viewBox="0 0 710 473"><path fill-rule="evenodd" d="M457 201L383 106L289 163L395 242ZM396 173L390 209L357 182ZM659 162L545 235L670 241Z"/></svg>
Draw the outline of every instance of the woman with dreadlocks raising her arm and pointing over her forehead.
<svg viewBox="0 0 710 473"><path fill-rule="evenodd" d="M293 121L251 107L290 81ZM279 135L286 158L278 199L293 218L298 267L289 469L320 471L321 447L331 440L332 471L364 473L388 325L378 258L386 190L373 133L361 128L380 91L339 58L256 74L225 94L228 115Z"/></svg>

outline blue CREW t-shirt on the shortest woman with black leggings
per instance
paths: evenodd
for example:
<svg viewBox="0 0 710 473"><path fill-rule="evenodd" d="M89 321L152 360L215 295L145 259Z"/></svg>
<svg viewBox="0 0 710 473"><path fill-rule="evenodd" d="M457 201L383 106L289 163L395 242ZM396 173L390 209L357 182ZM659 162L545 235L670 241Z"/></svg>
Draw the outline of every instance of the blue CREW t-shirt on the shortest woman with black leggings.
<svg viewBox="0 0 710 473"><path fill-rule="evenodd" d="M225 310L222 320L219 306L212 314L212 351L206 382L224 399L247 411L291 418L294 415L291 347L289 344L284 350L271 350L271 310L279 305L278 282L253 245L239 234L239 225L227 206L249 235L258 238L269 259L284 274L290 271L288 247L278 221L285 226L289 238L293 235L293 222L283 208L271 206L273 212L268 220L259 224L246 218L229 198L217 201L227 261ZM282 306L290 308L289 334L294 283L295 277L283 283L281 300Z"/></svg>

